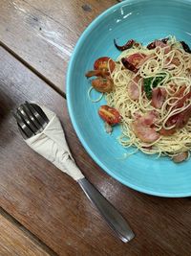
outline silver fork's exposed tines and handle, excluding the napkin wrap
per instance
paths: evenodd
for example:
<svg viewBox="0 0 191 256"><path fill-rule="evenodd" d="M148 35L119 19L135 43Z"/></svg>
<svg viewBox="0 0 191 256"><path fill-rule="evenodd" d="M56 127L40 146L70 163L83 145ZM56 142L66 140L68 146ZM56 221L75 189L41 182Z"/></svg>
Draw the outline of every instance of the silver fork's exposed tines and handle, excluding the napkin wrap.
<svg viewBox="0 0 191 256"><path fill-rule="evenodd" d="M42 108L39 105L28 102L20 105L13 115L24 139L31 138L35 134L40 133L49 123L49 119ZM83 177L77 182L86 196L96 205L101 216L115 231L117 237L124 243L132 240L135 235L117 209L96 190L88 179Z"/></svg>

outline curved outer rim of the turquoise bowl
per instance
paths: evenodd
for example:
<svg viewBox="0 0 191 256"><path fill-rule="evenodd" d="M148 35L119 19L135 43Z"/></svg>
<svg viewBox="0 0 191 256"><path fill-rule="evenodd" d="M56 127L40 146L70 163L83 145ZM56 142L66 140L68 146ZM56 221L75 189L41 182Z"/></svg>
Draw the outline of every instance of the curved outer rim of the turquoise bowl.
<svg viewBox="0 0 191 256"><path fill-rule="evenodd" d="M149 2L150 0L143 0L141 2ZM190 0L168 0L169 2L172 3L189 3L191 4ZM156 192L150 189L145 189L142 187L139 187L135 184L132 184L128 181L124 181L122 178L118 177L117 175L115 175L114 173L112 173L107 166L105 166L97 157L96 154L94 153L94 151L92 151L89 148L89 145L86 143L86 141L84 140L83 136L80 133L80 130L77 126L77 123L74 119L74 112L73 112L73 104L72 102L69 100L70 99L70 95L71 95L71 80L72 80L72 72L73 72L73 66L74 66L74 59L77 57L78 54L78 49L80 49L80 46L83 44L83 42L86 39L86 36L89 35L89 33L96 27L96 25L108 14L111 14L112 12L117 11L119 8L123 7L123 6L128 6L128 5L132 5L132 4L136 4L140 2L140 0L125 0L122 1L120 3L117 3L116 5L110 7L109 9L107 9L106 11L100 13L98 16L96 16L96 18L89 24L89 26L84 30L84 32L80 35L80 37L78 38L75 46L74 46L74 51L72 54L72 57L70 58L69 61L69 65L67 68L67 74L66 74L66 96L67 96L67 107L69 110L69 115L74 127L74 131L79 139L79 141L81 142L82 146L84 147L84 149L88 152L88 154L91 156L91 158L96 162L96 164L104 171L106 172L108 175L111 175L112 177L114 177L115 179L117 179L117 181L119 181L120 183L122 183L123 185L134 189L138 192L144 193L144 194L148 194L148 195L152 195L152 196L157 196L157 197L162 197L162 198L185 198L185 197L190 197L191 196L191 192L190 193L169 193L169 192ZM160 0L161 2L161 0ZM166 0L165 0L166 2Z"/></svg>

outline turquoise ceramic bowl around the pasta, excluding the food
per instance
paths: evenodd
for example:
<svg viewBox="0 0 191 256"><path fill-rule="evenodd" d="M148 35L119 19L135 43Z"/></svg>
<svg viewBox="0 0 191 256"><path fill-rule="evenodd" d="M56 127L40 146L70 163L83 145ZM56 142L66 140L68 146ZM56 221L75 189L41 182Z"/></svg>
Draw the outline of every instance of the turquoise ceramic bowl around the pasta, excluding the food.
<svg viewBox="0 0 191 256"><path fill-rule="evenodd" d="M90 83L84 76L93 68L96 58L117 58L114 38L118 44L130 38L146 44L166 35L176 35L191 45L191 1L129 0L103 12L75 46L67 74L67 102L79 140L108 175L143 193L188 197L191 196L191 159L175 164L166 157L156 159L141 152L122 159L127 151L117 143L119 128L112 135L105 133L97 114L98 106L105 101L93 104L89 100Z"/></svg>

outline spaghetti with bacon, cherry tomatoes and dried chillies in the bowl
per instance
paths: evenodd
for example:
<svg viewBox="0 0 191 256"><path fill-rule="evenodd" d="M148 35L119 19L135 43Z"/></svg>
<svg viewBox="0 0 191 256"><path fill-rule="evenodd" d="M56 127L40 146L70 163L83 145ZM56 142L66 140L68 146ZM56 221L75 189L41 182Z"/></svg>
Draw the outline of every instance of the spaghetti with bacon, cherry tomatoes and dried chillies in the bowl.
<svg viewBox="0 0 191 256"><path fill-rule="evenodd" d="M87 72L92 88L104 94L107 105L98 114L106 131L121 126L123 147L134 146L147 154L168 155L175 162L191 150L191 50L175 36L147 46L134 39L114 60L96 59ZM90 91L89 91L90 92Z"/></svg>

